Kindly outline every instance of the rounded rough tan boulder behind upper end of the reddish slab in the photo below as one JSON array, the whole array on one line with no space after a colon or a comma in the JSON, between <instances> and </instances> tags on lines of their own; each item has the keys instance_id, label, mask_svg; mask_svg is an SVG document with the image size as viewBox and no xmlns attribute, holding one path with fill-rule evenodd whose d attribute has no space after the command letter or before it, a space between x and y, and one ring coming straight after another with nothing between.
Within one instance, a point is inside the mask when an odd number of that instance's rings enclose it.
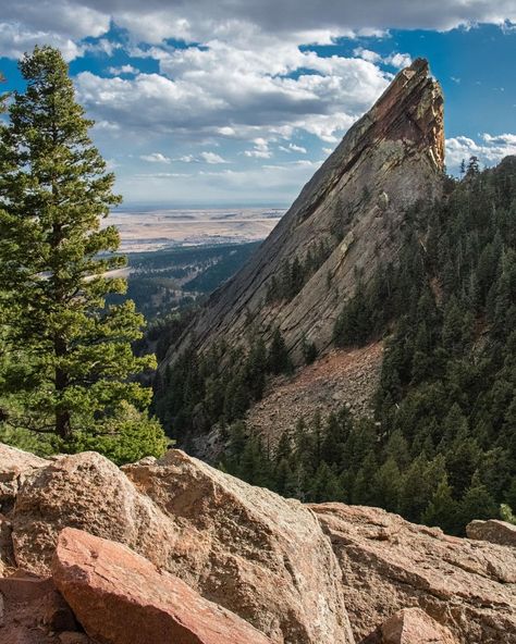
<instances>
[{"instance_id":1,"label":"rounded rough tan boulder behind upper end of the reddish slab","mask_svg":"<svg viewBox=\"0 0 516 644\"><path fill-rule=\"evenodd\" d=\"M11 521L17 566L44 575L65 527L124 543L164 567L177 532L115 465L94 451L37 470L20 490Z\"/></svg>"}]
</instances>

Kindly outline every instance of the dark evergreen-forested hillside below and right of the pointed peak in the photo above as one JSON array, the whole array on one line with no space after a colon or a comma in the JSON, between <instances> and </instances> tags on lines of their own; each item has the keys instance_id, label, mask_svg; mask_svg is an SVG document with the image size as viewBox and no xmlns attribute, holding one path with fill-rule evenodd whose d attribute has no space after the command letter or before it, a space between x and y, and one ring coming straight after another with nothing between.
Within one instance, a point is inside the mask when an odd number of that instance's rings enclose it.
<instances>
[{"instance_id":1,"label":"dark evergreen-forested hillside below and right of the pointed peak","mask_svg":"<svg viewBox=\"0 0 516 644\"><path fill-rule=\"evenodd\" d=\"M334 329L337 346L386 337L373 419L343 409L298 419L278 446L237 421L267 373L290 369L277 333L220 373L223 347L183 356L158 409L184 432L229 425L221 467L305 500L378 505L458 533L516 507L516 158L475 159L445 195L410 209L397 264L358 283ZM314 356L307 351L307 358Z\"/></svg>"}]
</instances>

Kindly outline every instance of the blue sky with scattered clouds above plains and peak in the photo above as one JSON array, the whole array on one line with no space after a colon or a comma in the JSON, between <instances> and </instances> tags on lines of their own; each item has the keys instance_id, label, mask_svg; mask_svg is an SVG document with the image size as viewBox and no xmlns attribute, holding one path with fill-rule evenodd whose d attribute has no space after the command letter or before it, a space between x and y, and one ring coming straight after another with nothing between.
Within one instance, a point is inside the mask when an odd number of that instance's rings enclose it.
<instances>
[{"instance_id":1,"label":"blue sky with scattered clouds above plains and peak","mask_svg":"<svg viewBox=\"0 0 516 644\"><path fill-rule=\"evenodd\" d=\"M17 0L0 71L53 45L126 208L288 206L396 72L429 60L446 166L516 154L515 0Z\"/></svg>"}]
</instances>

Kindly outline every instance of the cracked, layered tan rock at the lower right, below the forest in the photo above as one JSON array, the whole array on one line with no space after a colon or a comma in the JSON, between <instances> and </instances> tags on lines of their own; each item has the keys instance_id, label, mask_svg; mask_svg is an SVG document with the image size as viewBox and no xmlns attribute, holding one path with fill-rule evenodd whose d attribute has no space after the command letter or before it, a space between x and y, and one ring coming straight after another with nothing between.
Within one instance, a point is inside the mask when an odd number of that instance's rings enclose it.
<instances>
[{"instance_id":1,"label":"cracked, layered tan rock at the lower right, below the forest","mask_svg":"<svg viewBox=\"0 0 516 644\"><path fill-rule=\"evenodd\" d=\"M310 507L340 560L358 642L371 626L419 607L463 644L516 643L515 549L446 536L378 508Z\"/></svg>"}]
</instances>

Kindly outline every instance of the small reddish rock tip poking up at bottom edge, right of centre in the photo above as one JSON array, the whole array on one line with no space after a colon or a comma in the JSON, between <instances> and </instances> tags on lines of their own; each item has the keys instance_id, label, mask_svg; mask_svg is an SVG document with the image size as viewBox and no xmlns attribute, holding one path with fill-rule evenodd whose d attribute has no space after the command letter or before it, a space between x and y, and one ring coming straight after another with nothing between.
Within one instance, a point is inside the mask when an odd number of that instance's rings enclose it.
<instances>
[{"instance_id":1,"label":"small reddish rock tip poking up at bottom edge, right of centre","mask_svg":"<svg viewBox=\"0 0 516 644\"><path fill-rule=\"evenodd\" d=\"M393 615L364 644L457 644L457 640L420 608Z\"/></svg>"}]
</instances>

